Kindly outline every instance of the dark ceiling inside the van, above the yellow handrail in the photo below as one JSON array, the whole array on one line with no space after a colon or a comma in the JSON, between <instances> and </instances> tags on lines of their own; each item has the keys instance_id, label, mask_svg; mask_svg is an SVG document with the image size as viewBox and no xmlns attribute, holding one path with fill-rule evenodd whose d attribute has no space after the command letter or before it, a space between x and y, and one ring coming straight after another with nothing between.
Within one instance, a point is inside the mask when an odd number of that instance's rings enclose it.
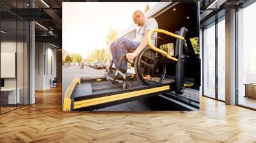
<instances>
[{"instance_id":1,"label":"dark ceiling inside the van, above the yellow handrail","mask_svg":"<svg viewBox=\"0 0 256 143\"><path fill-rule=\"evenodd\" d=\"M155 17L155 19L158 22L159 29L175 33L180 30L180 27L186 27L189 38L193 38L199 36L196 13L196 3L178 3ZM159 33L157 36L161 37L161 40L158 40L157 43L173 42L173 40L176 40L163 33Z\"/></svg>"}]
</instances>

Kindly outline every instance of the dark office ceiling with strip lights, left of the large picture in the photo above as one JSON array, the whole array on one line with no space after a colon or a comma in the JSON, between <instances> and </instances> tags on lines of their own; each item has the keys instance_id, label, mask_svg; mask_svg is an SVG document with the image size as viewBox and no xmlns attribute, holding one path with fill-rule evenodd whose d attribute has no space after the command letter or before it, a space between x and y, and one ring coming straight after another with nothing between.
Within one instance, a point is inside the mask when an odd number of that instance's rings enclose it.
<instances>
[{"instance_id":1,"label":"dark office ceiling with strip lights, left of the large picture","mask_svg":"<svg viewBox=\"0 0 256 143\"><path fill-rule=\"evenodd\" d=\"M35 20L36 42L49 42L62 47L62 2L61 0L1 0L1 29L8 31L2 38L12 39L23 33L23 21ZM16 20L17 31L16 31ZM19 22L22 21L22 22ZM28 29L25 28L25 31Z\"/></svg>"}]
</instances>

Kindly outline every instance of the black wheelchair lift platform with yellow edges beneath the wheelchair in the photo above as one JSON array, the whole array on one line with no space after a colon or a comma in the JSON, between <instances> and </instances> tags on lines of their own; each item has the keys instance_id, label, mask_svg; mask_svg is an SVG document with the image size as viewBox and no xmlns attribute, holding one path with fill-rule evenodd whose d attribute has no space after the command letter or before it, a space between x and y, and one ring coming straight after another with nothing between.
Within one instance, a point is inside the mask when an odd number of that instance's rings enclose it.
<instances>
[{"instance_id":1,"label":"black wheelchair lift platform with yellow edges beneath the wheelchair","mask_svg":"<svg viewBox=\"0 0 256 143\"><path fill-rule=\"evenodd\" d=\"M88 82L88 80L91 81ZM94 81L76 77L65 92L63 111L81 108L86 110L100 109L171 91L170 83L142 86L138 81L134 81L131 89L122 89L122 84L118 83L111 84L103 77L95 78ZM85 90L87 93L84 92Z\"/></svg>"}]
</instances>

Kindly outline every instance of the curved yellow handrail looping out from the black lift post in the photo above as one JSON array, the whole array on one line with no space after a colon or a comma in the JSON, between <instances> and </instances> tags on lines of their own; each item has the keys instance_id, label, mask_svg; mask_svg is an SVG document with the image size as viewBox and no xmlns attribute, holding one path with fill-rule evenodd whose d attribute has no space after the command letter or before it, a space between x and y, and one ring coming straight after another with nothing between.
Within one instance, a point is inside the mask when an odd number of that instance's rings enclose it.
<instances>
[{"instance_id":1,"label":"curved yellow handrail looping out from the black lift post","mask_svg":"<svg viewBox=\"0 0 256 143\"><path fill-rule=\"evenodd\" d=\"M163 30L163 29L151 29L151 30L149 31L149 33L148 33L148 45L149 45L149 47L150 47L152 50L155 50L156 52L159 52L159 53L163 54L163 55L166 56L168 59L172 59L173 61L178 61L177 58L170 56L170 55L169 55L167 52L165 52L164 50L161 50L161 49L158 49L157 47L154 47L154 45L153 45L152 42L151 42L151 37L152 37L152 35L153 35L155 32L168 34L169 36L173 36L174 38L178 38L178 39L180 39L180 40L184 40L184 41L185 41L184 44L186 44L185 38L182 37L182 36L179 36L179 35L177 35L177 34L173 34L173 33L170 33L170 32L168 32L168 31L165 31L165 30Z\"/></svg>"}]
</instances>

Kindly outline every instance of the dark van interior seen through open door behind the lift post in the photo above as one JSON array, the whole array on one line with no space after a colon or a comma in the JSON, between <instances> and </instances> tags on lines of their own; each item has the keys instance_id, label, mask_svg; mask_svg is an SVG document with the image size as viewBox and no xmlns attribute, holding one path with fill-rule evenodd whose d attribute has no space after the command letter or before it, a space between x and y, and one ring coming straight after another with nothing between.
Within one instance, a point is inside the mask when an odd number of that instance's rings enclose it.
<instances>
[{"instance_id":1,"label":"dark van interior seen through open door behind the lift post","mask_svg":"<svg viewBox=\"0 0 256 143\"><path fill-rule=\"evenodd\" d=\"M177 33L181 27L186 27L186 42L188 49L183 49L185 58L185 82L194 84L194 89L200 86L200 58L199 58L199 24L198 24L198 6L196 3L177 3L167 6L162 13L153 15L157 20L159 29L164 29L171 33ZM180 15L180 16L179 16ZM175 52L176 38L167 34L157 34L157 47L173 43ZM192 41L192 42L191 42ZM174 53L175 56L175 53ZM166 75L175 78L175 62L166 59Z\"/></svg>"}]
</instances>

